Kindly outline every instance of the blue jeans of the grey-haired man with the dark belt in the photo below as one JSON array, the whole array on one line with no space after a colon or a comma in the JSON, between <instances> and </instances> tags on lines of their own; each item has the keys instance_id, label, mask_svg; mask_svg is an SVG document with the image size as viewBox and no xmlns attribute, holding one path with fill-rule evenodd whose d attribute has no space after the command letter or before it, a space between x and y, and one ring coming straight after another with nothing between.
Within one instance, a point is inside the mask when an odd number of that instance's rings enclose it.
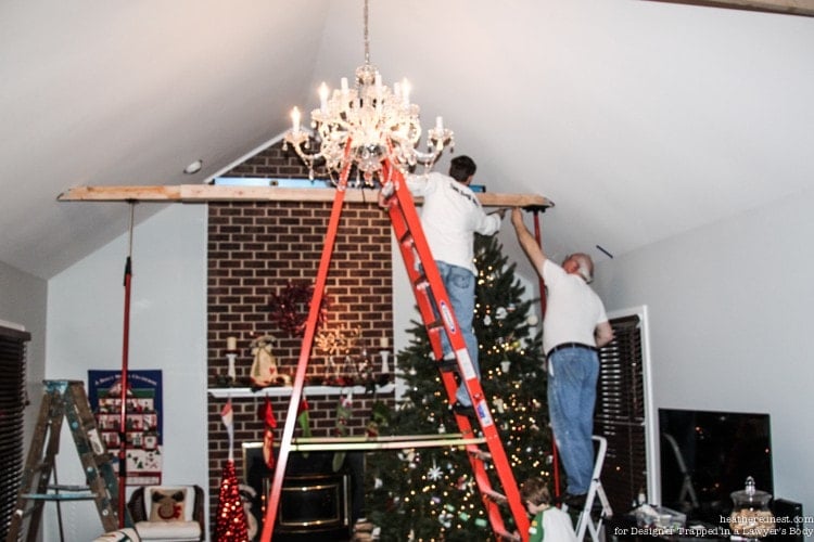
<instances>
[{"instance_id":1,"label":"blue jeans of the grey-haired man with the dark belt","mask_svg":"<svg viewBox=\"0 0 814 542\"><path fill-rule=\"evenodd\" d=\"M599 376L597 352L557 350L548 358L548 413L557 450L568 475L567 491L588 491L594 473L594 405Z\"/></svg>"}]
</instances>

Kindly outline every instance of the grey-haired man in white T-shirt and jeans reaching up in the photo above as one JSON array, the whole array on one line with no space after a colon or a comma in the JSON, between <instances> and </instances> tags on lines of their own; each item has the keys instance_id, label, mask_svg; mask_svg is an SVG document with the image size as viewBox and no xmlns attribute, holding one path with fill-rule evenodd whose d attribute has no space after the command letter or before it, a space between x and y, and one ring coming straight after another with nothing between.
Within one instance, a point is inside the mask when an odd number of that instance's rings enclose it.
<instances>
[{"instance_id":1,"label":"grey-haired man in white T-shirt and jeans reaching up","mask_svg":"<svg viewBox=\"0 0 814 542\"><path fill-rule=\"evenodd\" d=\"M594 472L594 405L599 376L597 349L613 340L605 306L588 286L594 262L586 254L549 260L523 223L511 214L518 242L547 287L543 349L548 364L548 413L568 475L562 501L582 507Z\"/></svg>"}]
</instances>

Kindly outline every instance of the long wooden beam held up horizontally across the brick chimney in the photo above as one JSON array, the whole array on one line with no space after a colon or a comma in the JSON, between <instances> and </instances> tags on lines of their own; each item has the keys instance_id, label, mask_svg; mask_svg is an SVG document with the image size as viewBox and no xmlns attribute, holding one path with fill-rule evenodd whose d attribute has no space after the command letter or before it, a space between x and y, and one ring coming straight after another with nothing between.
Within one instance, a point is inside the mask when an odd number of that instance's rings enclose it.
<instances>
[{"instance_id":1,"label":"long wooden beam held up horizontally across the brick chimney","mask_svg":"<svg viewBox=\"0 0 814 542\"><path fill-rule=\"evenodd\" d=\"M554 207L537 194L475 193L484 207ZM378 190L347 189L346 202L377 204ZM76 186L60 194L59 202L332 202L334 189L292 189L281 186L233 186L181 184L177 186ZM417 201L420 203L420 199Z\"/></svg>"}]
</instances>

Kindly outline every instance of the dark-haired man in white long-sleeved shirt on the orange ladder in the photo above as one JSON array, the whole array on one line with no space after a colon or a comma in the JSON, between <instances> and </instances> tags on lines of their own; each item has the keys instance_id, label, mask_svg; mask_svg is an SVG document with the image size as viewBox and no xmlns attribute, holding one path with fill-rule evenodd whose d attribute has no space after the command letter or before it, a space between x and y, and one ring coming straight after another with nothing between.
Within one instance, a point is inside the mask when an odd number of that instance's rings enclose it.
<instances>
[{"instance_id":1,"label":"dark-haired man in white long-sleeved shirt on the orange ladder","mask_svg":"<svg viewBox=\"0 0 814 542\"><path fill-rule=\"evenodd\" d=\"M449 175L431 172L407 175L407 188L414 196L423 197L421 227L430 251L444 281L455 318L467 344L467 352L480 378L478 338L472 328L475 301L474 233L492 235L500 229L504 210L486 214L469 188L478 169L469 156L456 156ZM445 359L454 358L449 340L442 333ZM453 410L474 414L472 400L463 385L458 387Z\"/></svg>"}]
</instances>

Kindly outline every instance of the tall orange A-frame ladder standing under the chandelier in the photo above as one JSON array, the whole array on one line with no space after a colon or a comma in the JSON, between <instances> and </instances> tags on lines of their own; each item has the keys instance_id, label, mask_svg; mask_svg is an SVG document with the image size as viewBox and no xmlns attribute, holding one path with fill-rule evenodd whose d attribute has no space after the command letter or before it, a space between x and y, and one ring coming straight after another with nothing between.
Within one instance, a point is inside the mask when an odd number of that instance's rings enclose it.
<instances>
[{"instance_id":1,"label":"tall orange A-frame ladder standing under the chandelier","mask_svg":"<svg viewBox=\"0 0 814 542\"><path fill-rule=\"evenodd\" d=\"M347 149L349 149L349 144ZM275 469L275 476L268 496L269 505L266 507L263 533L260 535L260 540L264 542L271 540L277 517L277 508L278 503L280 502L285 466L289 453L292 449L294 426L296 424L298 405L305 384L306 369L319 319L319 308L325 295L328 269L347 189L349 164L351 160L345 159L345 167L340 173L331 217L329 219L328 232L326 233L326 242L322 249L317 280L314 286L314 296L310 300L308 319L306 320L297 370L292 384L288 415L282 437L280 439L277 467ZM474 372L472 360L468 354L466 341L460 333L446 288L441 280L435 260L430 253L430 247L427 244L412 196L406 186L402 172L394 168L386 159L382 165L382 185L385 186L385 192L389 191L386 199L387 210L394 233L398 240L405 266L407 267L410 276L421 317L430 336L433 352L437 360L442 359L441 337L442 334L446 334L446 337L455 351L458 372L461 375L461 383L467 387L467 390L472 398L472 404L474 406L474 412L476 413L476 420L480 425L482 437L474 434L468 416L456 414L455 418L462 439L468 442L463 446L468 452L469 461L472 466L473 479L475 480L476 487L481 493L486 515L497 540L526 541L529 537L529 516L520 498L520 492L511 472L511 465L506 456L499 434L497 433L494 420L492 418L488 402L486 401L480 380ZM436 315L434 307L438 308L441 319ZM438 369L441 369L441 362L438 362ZM447 391L447 397L451 404L455 401L455 395L458 388L455 373L442 371L441 375ZM486 449L483 450L481 446ZM494 466L503 492L493 489L486 463L491 463L492 466ZM508 504L509 511L514 520L514 530L512 532L508 531L504 522L500 506L505 504Z\"/></svg>"}]
</instances>

